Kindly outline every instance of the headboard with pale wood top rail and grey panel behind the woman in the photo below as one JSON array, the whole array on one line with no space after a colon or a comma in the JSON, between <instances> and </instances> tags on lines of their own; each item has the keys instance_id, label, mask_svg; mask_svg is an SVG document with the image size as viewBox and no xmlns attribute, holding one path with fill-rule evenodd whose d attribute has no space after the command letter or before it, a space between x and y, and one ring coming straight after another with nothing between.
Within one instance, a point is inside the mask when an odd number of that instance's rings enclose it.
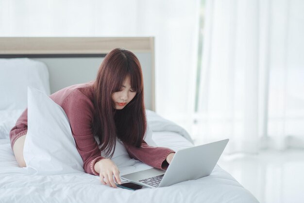
<instances>
[{"instance_id":1,"label":"headboard with pale wood top rail and grey panel behind the woman","mask_svg":"<svg viewBox=\"0 0 304 203\"><path fill-rule=\"evenodd\" d=\"M153 37L0 37L0 58L31 58L47 65L51 93L95 80L104 56L115 48L138 57L145 105L155 111Z\"/></svg>"}]
</instances>

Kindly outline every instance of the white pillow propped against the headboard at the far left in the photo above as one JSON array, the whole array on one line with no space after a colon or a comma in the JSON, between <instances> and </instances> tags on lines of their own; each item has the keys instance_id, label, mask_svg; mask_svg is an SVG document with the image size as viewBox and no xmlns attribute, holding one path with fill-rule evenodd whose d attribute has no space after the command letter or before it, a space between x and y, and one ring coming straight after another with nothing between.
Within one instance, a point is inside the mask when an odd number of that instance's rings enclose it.
<instances>
[{"instance_id":1,"label":"white pillow propped against the headboard at the far left","mask_svg":"<svg viewBox=\"0 0 304 203\"><path fill-rule=\"evenodd\" d=\"M0 59L0 110L25 109L27 86L50 95L47 66L28 58Z\"/></svg>"}]
</instances>

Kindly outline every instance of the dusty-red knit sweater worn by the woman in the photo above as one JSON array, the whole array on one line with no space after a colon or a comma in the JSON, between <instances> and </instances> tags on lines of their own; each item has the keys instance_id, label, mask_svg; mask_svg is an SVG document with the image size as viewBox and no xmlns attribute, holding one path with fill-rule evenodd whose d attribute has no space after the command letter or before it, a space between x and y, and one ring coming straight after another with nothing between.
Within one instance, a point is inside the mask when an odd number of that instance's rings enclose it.
<instances>
[{"instance_id":1,"label":"dusty-red knit sweater worn by the woman","mask_svg":"<svg viewBox=\"0 0 304 203\"><path fill-rule=\"evenodd\" d=\"M66 112L76 148L84 161L84 170L87 173L99 175L94 170L97 161L103 159L98 144L92 133L93 118L93 82L68 86L52 94L50 98L60 105ZM27 133L27 109L18 118L16 126L10 132L11 146L15 141ZM169 153L174 152L169 148L151 147L143 142L136 148L125 144L131 158L135 158L157 169L167 169L166 161Z\"/></svg>"}]
</instances>

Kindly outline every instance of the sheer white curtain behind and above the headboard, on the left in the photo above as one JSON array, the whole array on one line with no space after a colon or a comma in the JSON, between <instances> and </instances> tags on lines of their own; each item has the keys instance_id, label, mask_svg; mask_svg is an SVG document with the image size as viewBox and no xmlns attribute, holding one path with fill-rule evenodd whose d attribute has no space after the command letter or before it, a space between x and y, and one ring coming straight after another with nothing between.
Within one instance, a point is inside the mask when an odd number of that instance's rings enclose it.
<instances>
[{"instance_id":1,"label":"sheer white curtain behind and above the headboard, on the left","mask_svg":"<svg viewBox=\"0 0 304 203\"><path fill-rule=\"evenodd\" d=\"M156 112L190 128L199 0L0 0L0 36L154 36Z\"/></svg>"}]
</instances>

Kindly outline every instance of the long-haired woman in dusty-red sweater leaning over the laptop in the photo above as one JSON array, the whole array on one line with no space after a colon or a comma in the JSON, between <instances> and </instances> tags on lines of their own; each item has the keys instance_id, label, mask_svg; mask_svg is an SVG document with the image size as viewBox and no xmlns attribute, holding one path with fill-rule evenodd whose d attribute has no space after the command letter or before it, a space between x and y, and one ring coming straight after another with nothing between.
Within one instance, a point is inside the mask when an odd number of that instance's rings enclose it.
<instances>
[{"instance_id":1,"label":"long-haired woman in dusty-red sweater leaning over the laptop","mask_svg":"<svg viewBox=\"0 0 304 203\"><path fill-rule=\"evenodd\" d=\"M174 151L151 147L143 140L147 129L143 77L140 63L131 51L111 51L101 63L95 81L68 86L50 98L68 116L84 171L99 175L103 185L117 188L114 179L121 184L118 167L111 160L117 137L131 158L154 168L168 168ZM26 133L27 109L10 132L11 146L20 167L26 167L23 158ZM94 136L99 138L100 147ZM101 152L106 156L101 156Z\"/></svg>"}]
</instances>

